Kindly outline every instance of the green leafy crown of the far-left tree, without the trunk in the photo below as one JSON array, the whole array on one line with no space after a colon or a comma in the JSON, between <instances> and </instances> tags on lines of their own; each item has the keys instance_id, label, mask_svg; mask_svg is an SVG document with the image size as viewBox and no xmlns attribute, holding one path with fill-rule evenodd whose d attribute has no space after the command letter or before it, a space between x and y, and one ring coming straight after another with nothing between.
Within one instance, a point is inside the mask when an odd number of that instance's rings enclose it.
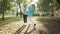
<instances>
[{"instance_id":1,"label":"green leafy crown of the far-left tree, without the trunk","mask_svg":"<svg viewBox=\"0 0 60 34\"><path fill-rule=\"evenodd\" d=\"M10 0L0 0L0 13L10 9Z\"/></svg>"}]
</instances>

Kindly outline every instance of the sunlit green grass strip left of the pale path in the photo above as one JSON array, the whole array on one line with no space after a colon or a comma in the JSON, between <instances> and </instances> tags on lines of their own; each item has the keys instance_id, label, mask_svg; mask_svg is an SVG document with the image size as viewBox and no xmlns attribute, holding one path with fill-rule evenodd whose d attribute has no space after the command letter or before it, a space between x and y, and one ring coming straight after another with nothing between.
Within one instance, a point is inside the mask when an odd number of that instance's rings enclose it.
<instances>
[{"instance_id":1,"label":"sunlit green grass strip left of the pale path","mask_svg":"<svg viewBox=\"0 0 60 34\"><path fill-rule=\"evenodd\" d=\"M15 17L15 16L5 17L4 20L1 20L1 17L0 17L0 27L8 23L12 23L19 20L20 20L20 17Z\"/></svg>"}]
</instances>

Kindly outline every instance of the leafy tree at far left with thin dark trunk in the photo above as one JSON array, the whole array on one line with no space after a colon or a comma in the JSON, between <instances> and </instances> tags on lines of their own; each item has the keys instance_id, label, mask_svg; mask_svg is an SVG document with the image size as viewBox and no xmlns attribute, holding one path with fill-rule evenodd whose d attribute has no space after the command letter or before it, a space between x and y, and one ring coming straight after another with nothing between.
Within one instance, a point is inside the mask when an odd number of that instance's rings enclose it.
<instances>
[{"instance_id":1,"label":"leafy tree at far left with thin dark trunk","mask_svg":"<svg viewBox=\"0 0 60 34\"><path fill-rule=\"evenodd\" d=\"M6 10L9 10L10 9L10 2L9 2L9 0L1 0L1 2L0 2L0 12L1 12L1 14L2 14L2 20L4 20L4 12L6 11Z\"/></svg>"}]
</instances>

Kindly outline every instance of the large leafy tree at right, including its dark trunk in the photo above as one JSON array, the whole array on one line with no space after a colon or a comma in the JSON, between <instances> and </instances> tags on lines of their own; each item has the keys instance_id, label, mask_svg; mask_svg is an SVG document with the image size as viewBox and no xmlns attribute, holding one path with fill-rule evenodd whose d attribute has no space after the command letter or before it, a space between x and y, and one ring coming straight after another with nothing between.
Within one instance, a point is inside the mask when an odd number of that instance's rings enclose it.
<instances>
[{"instance_id":1,"label":"large leafy tree at right, including its dark trunk","mask_svg":"<svg viewBox=\"0 0 60 34\"><path fill-rule=\"evenodd\" d=\"M38 8L44 10L44 12L51 11L51 15L54 16L56 5L56 0L39 0Z\"/></svg>"}]
</instances>

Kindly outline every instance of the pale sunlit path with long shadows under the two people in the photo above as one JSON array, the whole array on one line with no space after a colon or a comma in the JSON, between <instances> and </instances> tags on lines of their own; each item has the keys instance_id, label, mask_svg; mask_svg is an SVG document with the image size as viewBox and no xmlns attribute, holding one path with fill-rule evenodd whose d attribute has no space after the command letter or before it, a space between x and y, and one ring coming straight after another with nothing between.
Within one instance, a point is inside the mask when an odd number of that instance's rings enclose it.
<instances>
[{"instance_id":1,"label":"pale sunlit path with long shadows under the two people","mask_svg":"<svg viewBox=\"0 0 60 34\"><path fill-rule=\"evenodd\" d=\"M45 33L48 33L48 30L46 27L44 27L44 24L39 23L36 19L37 17L32 18L32 21L36 24L36 26L33 26L33 24L29 21L29 18L28 18L27 25L24 25L23 20L4 25L3 27L0 27L0 34L45 34Z\"/></svg>"}]
</instances>

